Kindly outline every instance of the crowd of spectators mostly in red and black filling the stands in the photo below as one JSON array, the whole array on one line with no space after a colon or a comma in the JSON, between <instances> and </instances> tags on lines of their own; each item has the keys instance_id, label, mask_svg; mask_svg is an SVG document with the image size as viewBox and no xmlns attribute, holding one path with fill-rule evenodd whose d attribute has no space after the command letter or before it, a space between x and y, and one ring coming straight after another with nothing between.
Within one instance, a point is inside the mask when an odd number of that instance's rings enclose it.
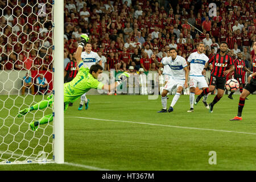
<instances>
[{"instance_id":1,"label":"crowd of spectators mostly in red and black filling the stands","mask_svg":"<svg viewBox=\"0 0 256 182\"><path fill-rule=\"evenodd\" d=\"M52 70L52 1L40 3L46 5L44 15L39 14L36 1L8 1L8 6L7 1L1 1L0 70L23 69L34 77ZM216 3L217 16L209 16L209 3ZM160 61L166 48L175 47L178 55L187 59L196 51L196 43L204 42L205 54L210 57L221 41L228 42L234 58L237 52L243 52L246 67L251 69L255 5L253 0L67 0L64 68L76 51L80 35L86 33L92 51L105 57L101 56L105 71L126 71L131 65L135 71L141 67L146 73L158 71L150 59L152 53Z\"/></svg>"}]
</instances>

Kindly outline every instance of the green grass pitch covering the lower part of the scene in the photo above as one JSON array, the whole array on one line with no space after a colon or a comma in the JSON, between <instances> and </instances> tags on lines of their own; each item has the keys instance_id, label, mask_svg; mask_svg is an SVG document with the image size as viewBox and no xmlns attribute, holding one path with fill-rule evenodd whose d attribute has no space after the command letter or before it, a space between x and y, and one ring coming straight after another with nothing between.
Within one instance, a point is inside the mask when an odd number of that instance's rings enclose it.
<instances>
[{"instance_id":1,"label":"green grass pitch covering the lower part of the scene","mask_svg":"<svg viewBox=\"0 0 256 182\"><path fill-rule=\"evenodd\" d=\"M160 96L87 97L88 110L77 110L76 101L64 115L66 164L0 165L0 170L256 170L255 95L245 101L242 122L229 121L237 114L238 95L234 100L224 95L213 113L201 101L187 113L189 96L180 97L173 113L156 113L162 109ZM169 106L173 96L168 97ZM28 130L42 111L15 118L19 107L40 100L42 96L0 96L0 151L20 148L17 156L22 150L29 155L33 147L34 154L51 151L52 123L36 133ZM38 141L50 144L43 148ZM209 164L210 151L216 152L217 164Z\"/></svg>"}]
</instances>

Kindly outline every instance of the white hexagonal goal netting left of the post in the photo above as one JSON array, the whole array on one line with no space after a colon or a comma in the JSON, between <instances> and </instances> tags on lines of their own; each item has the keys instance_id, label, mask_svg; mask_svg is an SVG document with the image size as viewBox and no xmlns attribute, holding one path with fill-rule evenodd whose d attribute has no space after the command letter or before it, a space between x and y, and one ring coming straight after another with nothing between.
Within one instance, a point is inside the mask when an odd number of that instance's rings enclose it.
<instances>
[{"instance_id":1,"label":"white hexagonal goal netting left of the post","mask_svg":"<svg viewBox=\"0 0 256 182\"><path fill-rule=\"evenodd\" d=\"M36 132L29 126L31 121L51 114L52 109L17 117L20 110L51 93L52 24L52 1L0 2L0 163L53 158L52 123ZM48 82L46 88L37 86L40 75Z\"/></svg>"}]
</instances>

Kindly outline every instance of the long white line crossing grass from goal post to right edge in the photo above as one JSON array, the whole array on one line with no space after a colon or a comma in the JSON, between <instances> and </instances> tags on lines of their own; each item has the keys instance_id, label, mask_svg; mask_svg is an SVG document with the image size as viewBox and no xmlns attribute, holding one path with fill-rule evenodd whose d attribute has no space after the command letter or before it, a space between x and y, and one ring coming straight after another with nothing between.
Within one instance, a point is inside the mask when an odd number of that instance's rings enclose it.
<instances>
[{"instance_id":1,"label":"long white line crossing grass from goal post to right edge","mask_svg":"<svg viewBox=\"0 0 256 182\"><path fill-rule=\"evenodd\" d=\"M91 120L96 120L96 121L112 121L112 122L123 122L123 123L135 123L135 124L140 124L140 125L175 127L175 128L178 128L178 129L206 130L206 131L218 131L218 132L226 132L226 133L256 135L256 133L247 133L247 132L242 132L242 131L229 131L229 130L216 130L216 129L200 129L200 128L197 128L197 127L161 125L161 124L155 124L155 123L144 123L144 122L134 122L134 121L119 121L119 120L112 120L112 119L98 119L98 118L85 118L85 117L65 117L65 118L80 118L80 119L91 119Z\"/></svg>"}]
</instances>

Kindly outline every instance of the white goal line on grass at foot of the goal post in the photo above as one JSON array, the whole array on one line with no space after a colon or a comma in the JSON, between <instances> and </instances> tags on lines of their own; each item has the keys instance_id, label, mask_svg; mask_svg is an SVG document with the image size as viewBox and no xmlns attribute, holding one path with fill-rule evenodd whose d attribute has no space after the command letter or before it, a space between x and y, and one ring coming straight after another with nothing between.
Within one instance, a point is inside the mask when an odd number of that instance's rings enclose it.
<instances>
[{"instance_id":1,"label":"white goal line on grass at foot of the goal post","mask_svg":"<svg viewBox=\"0 0 256 182\"><path fill-rule=\"evenodd\" d=\"M26 155L20 155L20 154L13 154L13 152L4 152L4 151L0 151L0 153L4 153L7 155L12 155L12 156L16 156L16 157L23 157L23 158L30 158L30 159L36 159L34 157L30 157L30 156L26 156ZM28 159L28 160L30 160ZM39 162L40 163L40 162ZM30 163L22 163L22 164L30 164ZM42 162L41 162L42 164ZM83 165L83 164L75 164L75 163L64 163L65 165L68 166L73 166L73 167L80 167L80 168L85 168L85 169L91 169L91 170L96 170L96 171L110 171L110 169L103 169L103 168L98 168L98 167L93 167L93 166L87 166L87 165ZM7 164L8 165L8 164Z\"/></svg>"}]
</instances>

